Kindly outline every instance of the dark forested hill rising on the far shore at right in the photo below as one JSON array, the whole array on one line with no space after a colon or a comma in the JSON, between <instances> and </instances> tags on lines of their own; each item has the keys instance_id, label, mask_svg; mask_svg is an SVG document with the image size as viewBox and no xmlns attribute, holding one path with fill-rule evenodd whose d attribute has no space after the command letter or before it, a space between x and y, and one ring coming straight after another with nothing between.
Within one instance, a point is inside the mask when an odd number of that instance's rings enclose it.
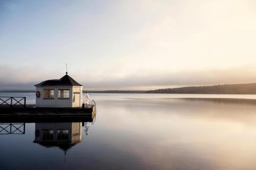
<instances>
[{"instance_id":1,"label":"dark forested hill rising on the far shore at right","mask_svg":"<svg viewBox=\"0 0 256 170\"><path fill-rule=\"evenodd\" d=\"M158 89L158 90L148 90L146 91L146 93L256 94L256 83L166 88L166 89Z\"/></svg>"}]
</instances>

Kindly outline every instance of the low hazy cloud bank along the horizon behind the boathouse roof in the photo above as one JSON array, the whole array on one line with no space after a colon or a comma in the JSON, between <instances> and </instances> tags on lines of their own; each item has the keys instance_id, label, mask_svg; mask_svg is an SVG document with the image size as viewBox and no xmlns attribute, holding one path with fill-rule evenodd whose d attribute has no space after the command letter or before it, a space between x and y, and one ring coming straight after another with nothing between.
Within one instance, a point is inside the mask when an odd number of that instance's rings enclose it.
<instances>
[{"instance_id":1,"label":"low hazy cloud bank along the horizon behind the boathouse roof","mask_svg":"<svg viewBox=\"0 0 256 170\"><path fill-rule=\"evenodd\" d=\"M1 67L3 72L7 68ZM59 79L63 73L51 74L35 68L10 69L8 76L0 75L1 89L33 89L33 85L48 79ZM177 72L140 72L123 77L115 74L70 74L89 90L109 89L155 89L179 86L215 85L256 82L256 73L252 66L239 66L229 69L183 70Z\"/></svg>"}]
</instances>

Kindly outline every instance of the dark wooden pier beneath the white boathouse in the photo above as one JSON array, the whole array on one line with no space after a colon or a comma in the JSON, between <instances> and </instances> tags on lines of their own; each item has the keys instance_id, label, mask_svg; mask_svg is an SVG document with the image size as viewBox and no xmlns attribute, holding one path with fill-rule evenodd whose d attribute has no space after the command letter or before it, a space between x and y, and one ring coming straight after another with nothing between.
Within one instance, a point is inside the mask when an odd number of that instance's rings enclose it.
<instances>
[{"instance_id":1,"label":"dark wooden pier beneath the white boathouse","mask_svg":"<svg viewBox=\"0 0 256 170\"><path fill-rule=\"evenodd\" d=\"M10 98L10 99L9 99ZM12 101L15 97L9 97L8 101L1 99L0 103L0 121L1 122L65 122L73 120L74 122L90 122L96 114L96 104L88 105L88 107L35 107L35 105L26 105L24 103L13 105ZM19 101L20 102L20 101Z\"/></svg>"}]
</instances>

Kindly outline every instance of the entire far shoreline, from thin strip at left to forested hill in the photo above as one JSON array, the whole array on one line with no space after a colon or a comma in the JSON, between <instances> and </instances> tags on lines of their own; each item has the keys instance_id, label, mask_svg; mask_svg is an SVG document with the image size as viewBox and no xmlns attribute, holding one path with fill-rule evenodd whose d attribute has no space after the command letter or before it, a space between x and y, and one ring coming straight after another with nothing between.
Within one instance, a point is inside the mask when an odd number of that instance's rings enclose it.
<instances>
[{"instance_id":1,"label":"entire far shoreline, from thin strip at left to forested hill","mask_svg":"<svg viewBox=\"0 0 256 170\"><path fill-rule=\"evenodd\" d=\"M0 92L35 92L35 90L0 90ZM83 90L86 92L86 90ZM256 83L190 86L157 90L89 90L89 93L162 93L162 94L256 94Z\"/></svg>"}]
</instances>

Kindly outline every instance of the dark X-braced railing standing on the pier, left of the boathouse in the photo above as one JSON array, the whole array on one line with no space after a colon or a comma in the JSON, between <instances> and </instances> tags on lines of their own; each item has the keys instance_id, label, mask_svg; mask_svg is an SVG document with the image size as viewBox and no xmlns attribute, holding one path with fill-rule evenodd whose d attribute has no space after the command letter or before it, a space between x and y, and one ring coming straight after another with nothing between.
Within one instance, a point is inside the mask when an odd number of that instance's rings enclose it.
<instances>
[{"instance_id":1,"label":"dark X-braced railing standing on the pier, left of the boathouse","mask_svg":"<svg viewBox=\"0 0 256 170\"><path fill-rule=\"evenodd\" d=\"M0 103L0 107L26 107L26 97L0 96L0 102L2 102Z\"/></svg>"}]
</instances>

